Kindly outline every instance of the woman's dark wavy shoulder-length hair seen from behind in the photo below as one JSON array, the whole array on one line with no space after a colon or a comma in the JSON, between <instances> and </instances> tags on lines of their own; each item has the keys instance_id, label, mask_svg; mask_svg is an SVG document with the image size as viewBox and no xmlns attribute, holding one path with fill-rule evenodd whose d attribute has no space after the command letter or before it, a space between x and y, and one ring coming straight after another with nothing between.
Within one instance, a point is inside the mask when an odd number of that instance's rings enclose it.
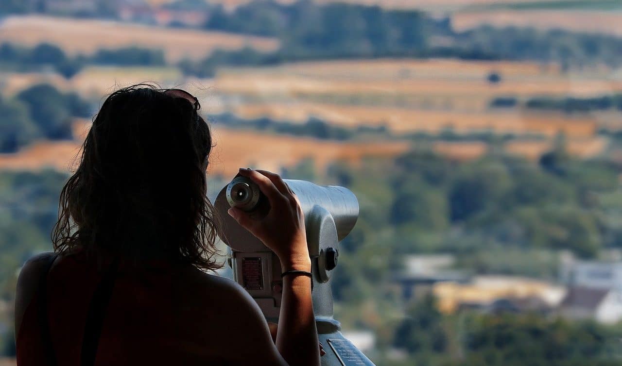
<instances>
[{"instance_id":1,"label":"woman's dark wavy shoulder-length hair seen from behind","mask_svg":"<svg viewBox=\"0 0 622 366\"><path fill-rule=\"evenodd\" d=\"M221 268L207 198L211 134L198 109L181 89L140 84L109 95L60 194L55 252Z\"/></svg>"}]
</instances>

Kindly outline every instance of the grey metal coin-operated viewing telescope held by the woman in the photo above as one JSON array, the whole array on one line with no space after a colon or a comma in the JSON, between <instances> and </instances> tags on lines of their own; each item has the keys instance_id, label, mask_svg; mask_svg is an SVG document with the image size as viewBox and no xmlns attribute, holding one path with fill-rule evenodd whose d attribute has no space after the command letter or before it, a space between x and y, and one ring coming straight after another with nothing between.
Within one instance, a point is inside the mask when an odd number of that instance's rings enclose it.
<instances>
[{"instance_id":1,"label":"grey metal coin-operated viewing telescope held by the woman","mask_svg":"<svg viewBox=\"0 0 622 366\"><path fill-rule=\"evenodd\" d=\"M294 191L305 215L307 244L313 273L312 298L318 337L326 354L323 366L373 365L341 334L341 324L333 318L330 278L337 267L339 242L358 219L358 201L347 188L318 186L309 181L284 180ZM265 207L267 198L244 176L236 176L215 199L223 220L221 239L230 247L233 278L253 296L267 321L278 322L281 310L281 262L261 240L227 214L231 206L244 211ZM327 347L328 345L328 347Z\"/></svg>"}]
</instances>

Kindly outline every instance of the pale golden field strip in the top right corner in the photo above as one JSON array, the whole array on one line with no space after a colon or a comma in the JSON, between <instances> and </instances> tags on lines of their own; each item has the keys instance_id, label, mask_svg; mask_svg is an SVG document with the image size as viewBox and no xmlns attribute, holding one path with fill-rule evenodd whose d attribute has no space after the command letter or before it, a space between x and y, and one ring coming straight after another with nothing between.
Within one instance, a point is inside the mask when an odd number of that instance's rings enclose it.
<instances>
[{"instance_id":1,"label":"pale golden field strip in the top right corner","mask_svg":"<svg viewBox=\"0 0 622 366\"><path fill-rule=\"evenodd\" d=\"M495 27L535 27L622 35L622 12L504 10L457 12L452 15L452 25L458 31L475 28L482 24Z\"/></svg>"}]
</instances>

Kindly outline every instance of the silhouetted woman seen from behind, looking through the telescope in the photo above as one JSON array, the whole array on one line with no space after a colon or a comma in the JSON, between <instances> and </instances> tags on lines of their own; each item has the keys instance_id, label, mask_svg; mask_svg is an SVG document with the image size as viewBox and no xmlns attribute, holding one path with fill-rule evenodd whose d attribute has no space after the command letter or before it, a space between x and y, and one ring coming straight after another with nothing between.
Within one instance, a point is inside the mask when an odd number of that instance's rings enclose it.
<instances>
[{"instance_id":1,"label":"silhouetted woman seen from behind, looking through the telescope","mask_svg":"<svg viewBox=\"0 0 622 366\"><path fill-rule=\"evenodd\" d=\"M60 195L54 253L19 275L18 365L319 364L304 217L278 175L239 172L269 198L264 219L230 210L294 271L276 345L253 298L206 273L221 265L199 108L185 91L149 85L104 101Z\"/></svg>"}]
</instances>

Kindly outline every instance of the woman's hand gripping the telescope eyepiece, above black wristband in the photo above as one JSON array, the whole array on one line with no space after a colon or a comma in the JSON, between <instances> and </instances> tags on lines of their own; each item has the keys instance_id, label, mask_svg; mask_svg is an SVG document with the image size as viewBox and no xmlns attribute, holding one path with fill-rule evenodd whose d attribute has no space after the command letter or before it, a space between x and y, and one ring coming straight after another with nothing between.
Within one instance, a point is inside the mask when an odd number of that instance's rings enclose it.
<instances>
[{"instance_id":1,"label":"woman's hand gripping the telescope eyepiece, above black wristband","mask_svg":"<svg viewBox=\"0 0 622 366\"><path fill-rule=\"evenodd\" d=\"M239 175L259 186L270 203L270 211L262 219L251 217L238 208L230 208L228 213L272 249L281 260L283 271L310 271L304 213L294 192L279 175L266 170L240 168Z\"/></svg>"}]
</instances>

